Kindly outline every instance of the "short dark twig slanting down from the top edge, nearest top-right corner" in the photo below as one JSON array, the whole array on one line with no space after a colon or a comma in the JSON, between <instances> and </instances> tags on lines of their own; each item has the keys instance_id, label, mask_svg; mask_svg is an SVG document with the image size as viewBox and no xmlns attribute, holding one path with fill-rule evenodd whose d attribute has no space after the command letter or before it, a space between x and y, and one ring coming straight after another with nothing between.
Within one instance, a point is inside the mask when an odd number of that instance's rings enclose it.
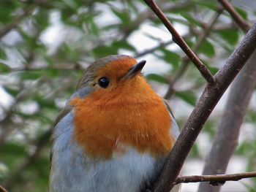
<instances>
[{"instance_id":1,"label":"short dark twig slanting down from the top edge, nearest top-right corner","mask_svg":"<svg viewBox=\"0 0 256 192\"><path fill-rule=\"evenodd\" d=\"M236 21L238 26L244 31L247 32L250 28L249 24L236 12L236 9L227 1L227 0L218 0L220 4L229 12L232 18Z\"/></svg>"}]
</instances>

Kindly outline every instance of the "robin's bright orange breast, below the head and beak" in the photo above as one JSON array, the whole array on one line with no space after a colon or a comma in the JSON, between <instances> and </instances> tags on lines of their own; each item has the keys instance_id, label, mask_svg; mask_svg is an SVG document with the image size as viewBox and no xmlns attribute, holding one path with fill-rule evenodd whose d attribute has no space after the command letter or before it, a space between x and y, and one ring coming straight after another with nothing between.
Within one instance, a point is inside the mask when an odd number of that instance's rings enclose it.
<instances>
[{"instance_id":1,"label":"robin's bright orange breast, below the head and beak","mask_svg":"<svg viewBox=\"0 0 256 192\"><path fill-rule=\"evenodd\" d=\"M94 91L70 104L75 109L74 139L92 158L124 154L127 146L154 156L167 155L173 147L170 116L146 82L131 90Z\"/></svg>"}]
</instances>

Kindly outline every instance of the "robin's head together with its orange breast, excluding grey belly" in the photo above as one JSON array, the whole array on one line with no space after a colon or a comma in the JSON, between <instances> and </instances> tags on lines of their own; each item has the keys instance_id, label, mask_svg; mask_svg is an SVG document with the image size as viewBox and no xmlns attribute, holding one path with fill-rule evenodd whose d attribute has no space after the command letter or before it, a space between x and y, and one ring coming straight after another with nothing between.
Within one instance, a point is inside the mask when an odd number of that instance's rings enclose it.
<instances>
[{"instance_id":1,"label":"robin's head together with its orange breast, excluding grey belly","mask_svg":"<svg viewBox=\"0 0 256 192\"><path fill-rule=\"evenodd\" d=\"M78 92L87 92L69 104L74 107L75 140L91 157L110 158L126 153L127 147L151 155L170 152L170 115L140 74L145 64L127 55L110 55L83 74Z\"/></svg>"}]
</instances>

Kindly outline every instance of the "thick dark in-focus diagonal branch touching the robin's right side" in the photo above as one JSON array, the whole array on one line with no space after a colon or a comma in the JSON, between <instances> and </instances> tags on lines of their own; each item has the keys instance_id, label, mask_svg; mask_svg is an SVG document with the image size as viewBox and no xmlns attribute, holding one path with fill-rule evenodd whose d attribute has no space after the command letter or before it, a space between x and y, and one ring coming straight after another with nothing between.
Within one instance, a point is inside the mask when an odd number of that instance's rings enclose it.
<instances>
[{"instance_id":1,"label":"thick dark in-focus diagonal branch touching the robin's right side","mask_svg":"<svg viewBox=\"0 0 256 192\"><path fill-rule=\"evenodd\" d=\"M179 135L162 172L153 184L153 191L170 191L192 145L212 110L256 48L256 23L252 26L225 66L215 75L216 84L206 85L195 109Z\"/></svg>"}]
</instances>

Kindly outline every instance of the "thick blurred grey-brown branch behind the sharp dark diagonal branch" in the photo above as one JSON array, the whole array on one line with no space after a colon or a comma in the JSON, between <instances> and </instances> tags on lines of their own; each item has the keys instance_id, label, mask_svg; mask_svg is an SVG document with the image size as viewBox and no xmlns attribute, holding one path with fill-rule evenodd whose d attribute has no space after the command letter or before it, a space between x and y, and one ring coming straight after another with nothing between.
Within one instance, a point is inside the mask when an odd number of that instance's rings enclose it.
<instances>
[{"instance_id":1,"label":"thick blurred grey-brown branch behind the sharp dark diagonal branch","mask_svg":"<svg viewBox=\"0 0 256 192\"><path fill-rule=\"evenodd\" d=\"M224 174L227 164L233 155L241 124L246 115L250 98L256 85L256 51L252 54L238 74L230 89L227 104L219 122L213 145L207 155L203 174ZM222 147L219 147L222 146ZM203 183L200 184L198 191L219 191L219 188L212 188Z\"/></svg>"}]
</instances>

